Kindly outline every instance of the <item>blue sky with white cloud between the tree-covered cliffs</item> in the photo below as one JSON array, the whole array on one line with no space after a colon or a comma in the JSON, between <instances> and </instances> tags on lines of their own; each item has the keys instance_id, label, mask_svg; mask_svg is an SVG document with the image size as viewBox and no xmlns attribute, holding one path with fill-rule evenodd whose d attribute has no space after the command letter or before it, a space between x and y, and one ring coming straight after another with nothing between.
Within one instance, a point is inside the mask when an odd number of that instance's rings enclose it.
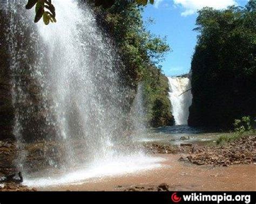
<instances>
[{"instance_id":1,"label":"blue sky with white cloud between the tree-covered cliffs","mask_svg":"<svg viewBox=\"0 0 256 204\"><path fill-rule=\"evenodd\" d=\"M167 76L177 76L190 71L191 58L197 43L198 33L192 31L196 25L197 10L209 6L225 9L229 5L244 6L247 0L154 0L147 5L143 19L147 30L157 36L166 37L171 46L162 66ZM153 19L153 24L149 23Z\"/></svg>"}]
</instances>

